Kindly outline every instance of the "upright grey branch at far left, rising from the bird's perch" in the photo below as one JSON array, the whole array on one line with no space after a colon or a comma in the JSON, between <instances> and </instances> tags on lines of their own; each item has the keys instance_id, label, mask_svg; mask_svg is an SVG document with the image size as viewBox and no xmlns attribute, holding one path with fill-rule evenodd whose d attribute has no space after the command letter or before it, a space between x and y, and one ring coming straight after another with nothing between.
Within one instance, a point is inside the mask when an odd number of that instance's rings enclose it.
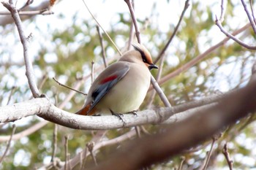
<instances>
[{"instance_id":1,"label":"upright grey branch at far left, rising from the bird's perch","mask_svg":"<svg viewBox=\"0 0 256 170\"><path fill-rule=\"evenodd\" d=\"M23 45L23 56L24 56L24 61L25 61L25 66L26 66L26 77L29 82L29 88L31 90L31 93L33 94L34 98L38 98L40 96L39 90L37 88L37 83L34 77L34 69L32 66L31 58L29 56L29 42L26 39L24 29L22 22L20 20L20 16L18 15L18 11L15 7L15 4L13 4L13 1L10 0L10 3L7 3L5 1L1 1L1 3L6 7L11 13L12 13L12 18L15 21L15 25L17 26L18 33L20 36L20 42Z\"/></svg>"}]
</instances>

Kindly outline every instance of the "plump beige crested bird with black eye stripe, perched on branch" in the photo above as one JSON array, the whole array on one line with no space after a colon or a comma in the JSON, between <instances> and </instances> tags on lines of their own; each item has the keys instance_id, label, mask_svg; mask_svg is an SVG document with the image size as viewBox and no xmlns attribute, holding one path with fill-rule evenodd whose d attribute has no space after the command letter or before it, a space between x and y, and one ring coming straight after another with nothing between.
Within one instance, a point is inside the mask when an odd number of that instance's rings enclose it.
<instances>
[{"instance_id":1,"label":"plump beige crested bird with black eye stripe, perched on branch","mask_svg":"<svg viewBox=\"0 0 256 170\"><path fill-rule=\"evenodd\" d=\"M132 45L116 62L99 74L91 85L86 103L76 114L95 115L134 113L142 104L148 91L151 73L158 69L143 45Z\"/></svg>"}]
</instances>

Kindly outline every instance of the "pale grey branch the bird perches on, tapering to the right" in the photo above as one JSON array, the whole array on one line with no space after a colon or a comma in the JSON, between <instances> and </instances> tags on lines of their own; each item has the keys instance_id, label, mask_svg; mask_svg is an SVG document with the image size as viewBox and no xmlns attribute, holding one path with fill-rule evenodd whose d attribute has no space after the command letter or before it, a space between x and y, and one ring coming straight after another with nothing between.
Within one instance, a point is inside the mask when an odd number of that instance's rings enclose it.
<instances>
[{"instance_id":1,"label":"pale grey branch the bird perches on, tapering to the right","mask_svg":"<svg viewBox=\"0 0 256 170\"><path fill-rule=\"evenodd\" d=\"M235 93L235 91L230 92ZM227 93L223 96L228 96L230 93ZM205 104L211 104L212 102L217 101L221 96L215 95L206 98L201 101L193 101L187 104L181 104L172 108L159 108L155 110L145 110L143 112L138 112L138 116L134 115L124 115L123 120L125 121L125 126L123 123L117 119L115 116L102 116L102 117L90 117L90 116L81 116L70 114L69 112L65 112L50 103L47 98L35 98L31 101L24 101L18 104L13 104L12 106L0 107L0 122L10 122L14 120L18 120L22 117L27 117L30 115L39 115L40 117L45 118L46 120L50 120L53 123L58 123L60 125L67 126L69 128L80 128L80 129L110 129L110 128L122 128L122 127L131 127L134 125L143 125L146 123L173 123L178 121L179 119L184 119L188 115L191 115L193 112L199 112L201 109L192 109L194 107L199 107ZM213 104L214 106L216 104ZM208 105L206 105L208 106ZM62 107L62 106L60 106ZM29 110L27 109L29 108ZM208 107L202 108L205 110ZM193 110L193 111L190 111ZM170 117L173 114L178 112L179 116ZM164 122L163 122L164 121ZM42 122L40 124L45 125L47 122ZM39 127L42 127L39 125ZM34 131L38 129L38 127L34 127L29 130ZM36 131L36 130L35 130ZM20 136L20 135L19 135ZM9 139L9 136L4 137L0 136L0 141Z\"/></svg>"}]
</instances>

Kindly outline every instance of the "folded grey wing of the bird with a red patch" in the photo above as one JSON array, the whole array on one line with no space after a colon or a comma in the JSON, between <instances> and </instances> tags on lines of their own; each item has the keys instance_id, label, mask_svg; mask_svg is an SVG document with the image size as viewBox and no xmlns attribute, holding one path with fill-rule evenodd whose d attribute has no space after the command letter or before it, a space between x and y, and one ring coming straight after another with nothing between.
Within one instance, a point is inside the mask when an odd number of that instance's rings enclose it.
<instances>
[{"instance_id":1,"label":"folded grey wing of the bird with a red patch","mask_svg":"<svg viewBox=\"0 0 256 170\"><path fill-rule=\"evenodd\" d=\"M99 74L97 79L91 85L92 103L89 107L88 113L99 103L100 99L113 88L129 71L130 66L127 63L118 62L113 63L102 74Z\"/></svg>"}]
</instances>

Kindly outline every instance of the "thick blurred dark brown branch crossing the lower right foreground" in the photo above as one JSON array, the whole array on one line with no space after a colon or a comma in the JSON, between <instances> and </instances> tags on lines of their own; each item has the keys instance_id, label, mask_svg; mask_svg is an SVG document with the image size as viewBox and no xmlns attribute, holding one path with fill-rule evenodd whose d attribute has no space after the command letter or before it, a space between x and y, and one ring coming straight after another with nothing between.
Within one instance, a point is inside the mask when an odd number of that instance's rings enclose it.
<instances>
[{"instance_id":1,"label":"thick blurred dark brown branch crossing the lower right foreground","mask_svg":"<svg viewBox=\"0 0 256 170\"><path fill-rule=\"evenodd\" d=\"M171 158L209 139L226 125L256 110L256 82L249 82L219 101L206 112L197 112L180 123L169 125L161 133L135 139L120 148L112 158L99 163L94 170L133 170ZM250 98L250 101L246 98ZM145 152L147 154L145 154Z\"/></svg>"}]
</instances>

